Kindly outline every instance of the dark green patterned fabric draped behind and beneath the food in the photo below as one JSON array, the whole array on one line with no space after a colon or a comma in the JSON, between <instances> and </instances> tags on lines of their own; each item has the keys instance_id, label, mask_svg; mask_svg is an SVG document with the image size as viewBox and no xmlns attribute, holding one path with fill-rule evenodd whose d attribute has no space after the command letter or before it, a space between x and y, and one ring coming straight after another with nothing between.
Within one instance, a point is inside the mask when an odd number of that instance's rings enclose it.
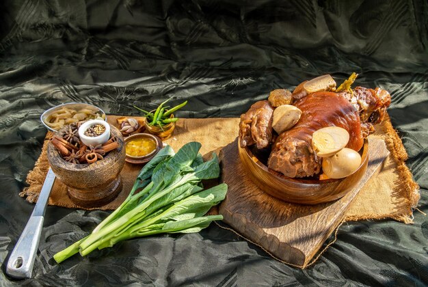
<instances>
[{"instance_id":1,"label":"dark green patterned fabric draped behind and beneath the food","mask_svg":"<svg viewBox=\"0 0 428 287\"><path fill-rule=\"evenodd\" d=\"M18 193L46 133L39 117L62 102L137 115L133 104L187 99L180 117L237 117L275 88L326 73L340 82L355 71L358 85L391 92L388 112L428 213L427 21L426 0L1 1L0 285L427 285L428 219L417 211L413 225L346 223L302 271L215 225L57 265L52 255L108 213L49 206L34 278L5 275L34 208Z\"/></svg>"}]
</instances>

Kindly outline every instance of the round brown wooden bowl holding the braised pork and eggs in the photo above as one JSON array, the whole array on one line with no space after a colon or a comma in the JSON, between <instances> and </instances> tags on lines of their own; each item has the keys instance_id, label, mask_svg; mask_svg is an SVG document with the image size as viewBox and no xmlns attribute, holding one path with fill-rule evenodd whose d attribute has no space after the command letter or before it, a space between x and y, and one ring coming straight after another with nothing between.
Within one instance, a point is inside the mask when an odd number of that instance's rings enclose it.
<instances>
[{"instance_id":1,"label":"round brown wooden bowl holding the braised pork and eggs","mask_svg":"<svg viewBox=\"0 0 428 287\"><path fill-rule=\"evenodd\" d=\"M338 200L358 183L369 163L369 141L365 139L360 167L350 176L329 180L289 178L267 167L262 156L256 156L250 148L241 148L239 143L238 148L245 172L261 190L280 200L296 204L320 204Z\"/></svg>"}]
</instances>

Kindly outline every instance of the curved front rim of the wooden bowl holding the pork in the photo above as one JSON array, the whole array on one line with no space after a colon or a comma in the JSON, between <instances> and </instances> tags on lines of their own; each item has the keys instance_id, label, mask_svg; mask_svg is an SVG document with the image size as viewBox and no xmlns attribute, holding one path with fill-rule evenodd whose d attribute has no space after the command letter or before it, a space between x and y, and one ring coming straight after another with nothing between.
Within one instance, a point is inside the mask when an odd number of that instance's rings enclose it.
<instances>
[{"instance_id":1,"label":"curved front rim of the wooden bowl holding the pork","mask_svg":"<svg viewBox=\"0 0 428 287\"><path fill-rule=\"evenodd\" d=\"M239 140L238 143L238 147L241 148L241 141ZM245 146L245 148L241 148L243 150L245 150L245 153L247 154L247 156L254 162L256 163L256 165L260 168L263 169L265 172L269 172L270 174L272 174L273 176L276 176L278 178L281 178L282 180L288 180L291 182L297 182L297 183L303 183L303 184L308 184L308 185L322 185L322 184L327 184L327 183L331 183L331 182L340 182L342 180L344 180L345 178L330 178L327 180L314 180L314 179L305 179L305 178L290 178L288 176L284 176L284 174L281 174L280 172L276 172L273 169L270 169L269 167L267 167L264 163L262 163L250 150L250 148L248 148L248 146ZM362 167L364 167L364 164L366 163L366 161L369 159L369 139L365 138L364 139L364 143L362 145L362 155L361 155L361 163L360 166L358 167L358 169L356 169L356 172L358 170L360 170Z\"/></svg>"}]
</instances>

